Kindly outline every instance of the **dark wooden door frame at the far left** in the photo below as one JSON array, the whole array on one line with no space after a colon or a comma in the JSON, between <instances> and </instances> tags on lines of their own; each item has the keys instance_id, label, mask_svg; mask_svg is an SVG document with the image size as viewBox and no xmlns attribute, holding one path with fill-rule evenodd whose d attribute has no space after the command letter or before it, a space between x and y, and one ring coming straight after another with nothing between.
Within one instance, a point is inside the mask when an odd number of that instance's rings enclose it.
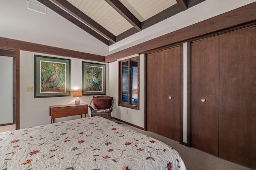
<instances>
[{"instance_id":1,"label":"dark wooden door frame at the far left","mask_svg":"<svg viewBox=\"0 0 256 170\"><path fill-rule=\"evenodd\" d=\"M13 123L16 129L20 129L20 50L0 49L0 55L13 57Z\"/></svg>"}]
</instances>

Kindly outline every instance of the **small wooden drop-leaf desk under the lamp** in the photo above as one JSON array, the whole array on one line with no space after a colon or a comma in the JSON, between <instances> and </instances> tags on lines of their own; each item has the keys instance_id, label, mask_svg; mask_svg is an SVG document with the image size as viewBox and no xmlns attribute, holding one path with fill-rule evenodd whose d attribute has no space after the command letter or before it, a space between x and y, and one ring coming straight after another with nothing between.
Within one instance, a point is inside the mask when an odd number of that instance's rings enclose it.
<instances>
[{"instance_id":1,"label":"small wooden drop-leaf desk under the lamp","mask_svg":"<svg viewBox=\"0 0 256 170\"><path fill-rule=\"evenodd\" d=\"M81 115L81 118L82 118L82 115L84 114L84 117L86 117L87 113L88 113L88 105L83 103L79 105L66 104L66 105L50 106L51 123L54 123L55 119L59 117Z\"/></svg>"}]
</instances>

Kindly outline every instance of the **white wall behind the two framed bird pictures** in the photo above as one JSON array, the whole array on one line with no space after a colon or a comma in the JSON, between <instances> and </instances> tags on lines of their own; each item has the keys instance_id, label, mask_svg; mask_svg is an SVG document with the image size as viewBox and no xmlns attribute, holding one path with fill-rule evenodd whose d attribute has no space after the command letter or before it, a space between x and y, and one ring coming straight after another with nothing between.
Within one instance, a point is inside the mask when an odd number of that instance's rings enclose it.
<instances>
[{"instance_id":1,"label":"white wall behind the two framed bird pictures","mask_svg":"<svg viewBox=\"0 0 256 170\"><path fill-rule=\"evenodd\" d=\"M43 55L49 57L58 57L71 59L71 91L82 90L82 59L68 57L59 57L41 53L32 53L20 51L20 128L32 127L36 125L49 124L51 122L49 115L49 106L74 104L72 97L55 98L34 98L34 92L27 92L28 86L34 86L34 55ZM90 61L91 62L91 61ZM99 62L95 62L99 63ZM108 64L106 64L106 94L108 94ZM79 98L81 103L89 104L92 96L83 96ZM90 113L90 109L88 109ZM90 116L87 115L87 116ZM55 122L80 118L78 116L63 117L55 119Z\"/></svg>"}]
</instances>

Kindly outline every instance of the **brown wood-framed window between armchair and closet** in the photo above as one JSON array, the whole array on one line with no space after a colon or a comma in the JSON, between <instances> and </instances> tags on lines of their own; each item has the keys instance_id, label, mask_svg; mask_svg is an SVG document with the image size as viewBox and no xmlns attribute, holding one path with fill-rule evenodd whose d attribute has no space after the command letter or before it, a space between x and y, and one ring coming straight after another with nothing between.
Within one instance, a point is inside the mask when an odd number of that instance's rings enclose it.
<instances>
[{"instance_id":1,"label":"brown wood-framed window between armchair and closet","mask_svg":"<svg viewBox=\"0 0 256 170\"><path fill-rule=\"evenodd\" d=\"M138 56L119 61L118 106L139 109Z\"/></svg>"}]
</instances>

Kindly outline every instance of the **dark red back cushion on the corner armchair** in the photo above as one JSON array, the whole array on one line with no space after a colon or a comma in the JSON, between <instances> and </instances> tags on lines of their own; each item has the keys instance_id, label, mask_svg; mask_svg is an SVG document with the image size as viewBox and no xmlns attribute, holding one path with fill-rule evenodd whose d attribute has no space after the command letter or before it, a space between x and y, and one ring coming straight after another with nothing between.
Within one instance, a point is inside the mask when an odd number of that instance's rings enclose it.
<instances>
[{"instance_id":1,"label":"dark red back cushion on the corner armchair","mask_svg":"<svg viewBox=\"0 0 256 170\"><path fill-rule=\"evenodd\" d=\"M94 109L109 109L112 106L113 97L109 98L97 98L93 96L93 108Z\"/></svg>"}]
</instances>

